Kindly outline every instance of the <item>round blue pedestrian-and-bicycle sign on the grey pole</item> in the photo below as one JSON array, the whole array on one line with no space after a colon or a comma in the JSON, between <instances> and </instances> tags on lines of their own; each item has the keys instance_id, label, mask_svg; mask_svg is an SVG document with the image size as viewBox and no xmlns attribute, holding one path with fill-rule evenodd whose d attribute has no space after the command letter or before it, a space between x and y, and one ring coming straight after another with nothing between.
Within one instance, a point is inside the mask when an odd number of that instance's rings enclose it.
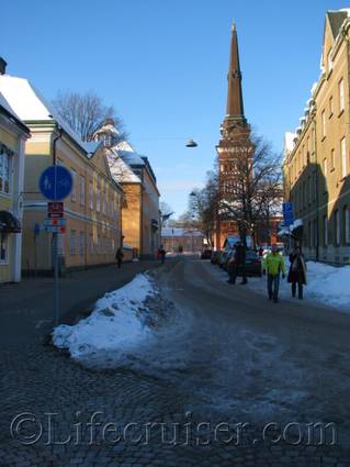
<instances>
[{"instance_id":1,"label":"round blue pedestrian-and-bicycle sign on the grey pole","mask_svg":"<svg viewBox=\"0 0 350 467\"><path fill-rule=\"evenodd\" d=\"M66 167L50 166L41 175L38 189L48 200L63 200L72 189L72 176Z\"/></svg>"}]
</instances>

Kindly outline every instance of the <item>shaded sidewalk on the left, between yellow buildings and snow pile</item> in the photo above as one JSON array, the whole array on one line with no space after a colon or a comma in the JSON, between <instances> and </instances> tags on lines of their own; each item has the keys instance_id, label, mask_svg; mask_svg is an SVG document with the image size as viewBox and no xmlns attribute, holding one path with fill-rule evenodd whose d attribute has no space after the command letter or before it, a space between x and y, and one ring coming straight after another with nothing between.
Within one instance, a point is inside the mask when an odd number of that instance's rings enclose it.
<instances>
[{"instance_id":1,"label":"shaded sidewalk on the left, between yellow buildings and snow pile","mask_svg":"<svg viewBox=\"0 0 350 467\"><path fill-rule=\"evenodd\" d=\"M60 323L74 323L92 310L105 292L131 281L138 273L159 266L156 260L125 263L71 273L59 279ZM53 278L26 278L0 287L0 347L44 342L53 329Z\"/></svg>"}]
</instances>

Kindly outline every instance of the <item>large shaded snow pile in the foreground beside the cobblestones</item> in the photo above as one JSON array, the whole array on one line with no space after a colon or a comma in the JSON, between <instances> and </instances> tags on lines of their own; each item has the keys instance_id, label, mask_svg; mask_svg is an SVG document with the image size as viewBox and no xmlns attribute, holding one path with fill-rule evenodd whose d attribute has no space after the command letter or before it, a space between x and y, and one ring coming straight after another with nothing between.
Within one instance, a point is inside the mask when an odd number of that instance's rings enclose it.
<instances>
[{"instance_id":1,"label":"large shaded snow pile in the foreground beside the cobblestones","mask_svg":"<svg viewBox=\"0 0 350 467\"><path fill-rule=\"evenodd\" d=\"M74 326L56 327L54 345L69 349L77 359L99 351L117 349L123 354L151 336L144 302L156 294L150 277L137 275L121 289L105 293L86 320Z\"/></svg>"}]
</instances>

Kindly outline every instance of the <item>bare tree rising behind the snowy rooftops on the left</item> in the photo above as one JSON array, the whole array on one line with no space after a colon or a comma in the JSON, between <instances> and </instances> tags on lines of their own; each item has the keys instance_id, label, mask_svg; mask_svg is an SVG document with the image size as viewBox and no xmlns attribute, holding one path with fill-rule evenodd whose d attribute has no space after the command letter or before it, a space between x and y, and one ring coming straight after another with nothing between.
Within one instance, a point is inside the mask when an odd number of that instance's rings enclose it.
<instances>
[{"instance_id":1,"label":"bare tree rising behind the snowy rooftops on the left","mask_svg":"<svg viewBox=\"0 0 350 467\"><path fill-rule=\"evenodd\" d=\"M113 105L104 105L103 100L93 91L86 93L59 91L53 104L58 114L81 137L91 141L94 132L108 119L112 119L118 132L116 142L126 140L122 119L116 114Z\"/></svg>"}]
</instances>

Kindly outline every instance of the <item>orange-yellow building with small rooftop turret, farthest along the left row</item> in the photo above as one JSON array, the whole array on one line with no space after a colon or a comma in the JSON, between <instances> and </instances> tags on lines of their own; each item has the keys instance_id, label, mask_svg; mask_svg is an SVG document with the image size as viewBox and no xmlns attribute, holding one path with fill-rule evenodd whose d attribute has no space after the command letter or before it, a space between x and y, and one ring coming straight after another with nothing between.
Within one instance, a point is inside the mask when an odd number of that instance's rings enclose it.
<instances>
[{"instance_id":1,"label":"orange-yellow building with small rooftop turret, farthest along the left row","mask_svg":"<svg viewBox=\"0 0 350 467\"><path fill-rule=\"evenodd\" d=\"M111 173L124 190L123 242L143 258L154 258L160 246L160 211L157 179L145 156L125 141L116 143L109 120L95 138L104 142Z\"/></svg>"}]
</instances>

